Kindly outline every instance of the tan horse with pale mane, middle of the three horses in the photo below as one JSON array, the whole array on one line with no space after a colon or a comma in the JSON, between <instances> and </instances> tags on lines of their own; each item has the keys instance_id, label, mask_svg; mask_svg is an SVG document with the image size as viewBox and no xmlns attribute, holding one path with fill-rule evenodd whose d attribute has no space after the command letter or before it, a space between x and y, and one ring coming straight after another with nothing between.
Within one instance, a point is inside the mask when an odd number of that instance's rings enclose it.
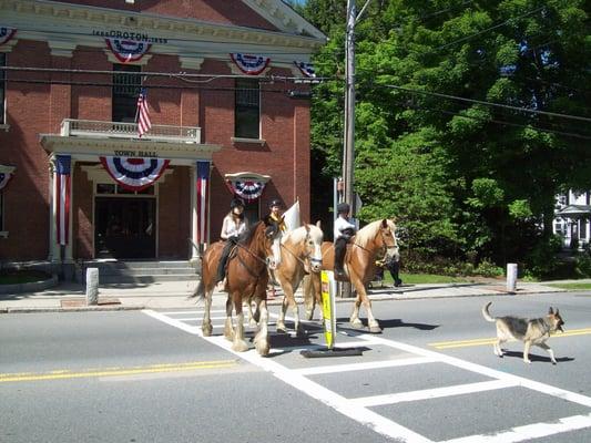
<instances>
[{"instance_id":1,"label":"tan horse with pale mane, middle of the three horses","mask_svg":"<svg viewBox=\"0 0 591 443\"><path fill-rule=\"evenodd\" d=\"M294 329L302 334L299 311L294 292L307 274L318 274L323 266L323 231L318 226L304 225L282 238L282 262L275 269L275 278L282 286L284 297L277 320L277 331L286 332L285 312L292 307Z\"/></svg>"}]
</instances>

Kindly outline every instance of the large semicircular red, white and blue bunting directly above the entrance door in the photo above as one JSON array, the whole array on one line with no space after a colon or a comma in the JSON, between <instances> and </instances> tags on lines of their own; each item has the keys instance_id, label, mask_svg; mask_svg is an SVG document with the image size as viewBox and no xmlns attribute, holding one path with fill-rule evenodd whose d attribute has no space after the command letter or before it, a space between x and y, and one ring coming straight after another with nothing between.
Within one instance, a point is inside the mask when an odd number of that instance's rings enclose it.
<instances>
[{"instance_id":1,"label":"large semicircular red, white and blue bunting directly above the entrance door","mask_svg":"<svg viewBox=\"0 0 591 443\"><path fill-rule=\"evenodd\" d=\"M129 190L142 190L153 185L171 162L163 158L100 158L109 175Z\"/></svg>"}]
</instances>

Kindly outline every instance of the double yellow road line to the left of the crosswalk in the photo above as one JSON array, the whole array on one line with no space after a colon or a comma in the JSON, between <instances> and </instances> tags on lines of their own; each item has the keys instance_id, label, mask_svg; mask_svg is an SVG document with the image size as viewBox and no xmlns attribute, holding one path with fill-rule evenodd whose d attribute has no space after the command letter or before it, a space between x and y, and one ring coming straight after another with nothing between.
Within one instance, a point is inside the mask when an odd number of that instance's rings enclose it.
<instances>
[{"instance_id":1,"label":"double yellow road line to the left of the crosswalk","mask_svg":"<svg viewBox=\"0 0 591 443\"><path fill-rule=\"evenodd\" d=\"M225 369L237 365L236 360L215 360L215 361L192 361L186 363L165 363L152 364L147 367L132 367L132 368L110 368L96 370L55 370L40 373L20 372L20 373L0 373L0 383L18 382L18 381L41 381L41 380L65 380L65 379L83 379L93 377L118 377L118 375L137 375L144 373L161 373L161 372L180 372L194 371L202 369Z\"/></svg>"}]
</instances>

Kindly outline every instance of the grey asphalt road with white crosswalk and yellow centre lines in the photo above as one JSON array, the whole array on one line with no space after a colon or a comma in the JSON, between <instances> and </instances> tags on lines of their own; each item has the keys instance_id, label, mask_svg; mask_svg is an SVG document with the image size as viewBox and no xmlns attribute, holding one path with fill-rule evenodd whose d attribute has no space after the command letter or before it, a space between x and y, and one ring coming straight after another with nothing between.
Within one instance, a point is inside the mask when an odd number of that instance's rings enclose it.
<instances>
[{"instance_id":1,"label":"grey asphalt road with white crosswalk and yellow centre lines","mask_svg":"<svg viewBox=\"0 0 591 443\"><path fill-rule=\"evenodd\" d=\"M558 365L539 348L523 363L521 343L493 356L487 301L497 316L558 306ZM591 293L389 300L374 312L381 334L348 329L350 303L337 303L337 346L364 352L324 359L299 353L324 344L317 322L304 339L274 333L259 358L230 351L222 312L200 337L200 308L1 316L0 441L591 441Z\"/></svg>"}]
</instances>

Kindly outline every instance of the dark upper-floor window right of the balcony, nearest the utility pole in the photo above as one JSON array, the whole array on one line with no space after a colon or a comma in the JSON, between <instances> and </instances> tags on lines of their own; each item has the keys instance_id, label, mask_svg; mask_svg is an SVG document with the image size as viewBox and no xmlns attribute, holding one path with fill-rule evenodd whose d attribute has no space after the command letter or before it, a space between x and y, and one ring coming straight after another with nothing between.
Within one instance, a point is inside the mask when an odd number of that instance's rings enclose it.
<instances>
[{"instance_id":1,"label":"dark upper-floor window right of the balcony, nearest the utility pole","mask_svg":"<svg viewBox=\"0 0 591 443\"><path fill-rule=\"evenodd\" d=\"M257 80L236 80L234 136L261 138L261 91Z\"/></svg>"}]
</instances>

